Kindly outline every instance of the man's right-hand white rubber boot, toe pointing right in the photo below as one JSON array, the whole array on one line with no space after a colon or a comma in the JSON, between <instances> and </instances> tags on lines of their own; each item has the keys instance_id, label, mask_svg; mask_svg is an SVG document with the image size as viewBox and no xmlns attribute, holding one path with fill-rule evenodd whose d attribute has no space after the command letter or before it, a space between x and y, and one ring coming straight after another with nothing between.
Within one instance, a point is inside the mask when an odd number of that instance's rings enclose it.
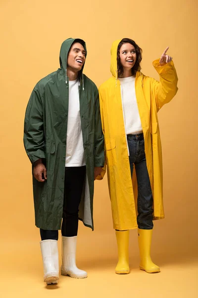
<instances>
[{"instance_id":1,"label":"man's right-hand white rubber boot, toe pointing right","mask_svg":"<svg viewBox=\"0 0 198 298\"><path fill-rule=\"evenodd\" d=\"M76 267L76 240L77 236L62 236L62 266L61 275L73 278L86 278L87 272Z\"/></svg>"}]
</instances>

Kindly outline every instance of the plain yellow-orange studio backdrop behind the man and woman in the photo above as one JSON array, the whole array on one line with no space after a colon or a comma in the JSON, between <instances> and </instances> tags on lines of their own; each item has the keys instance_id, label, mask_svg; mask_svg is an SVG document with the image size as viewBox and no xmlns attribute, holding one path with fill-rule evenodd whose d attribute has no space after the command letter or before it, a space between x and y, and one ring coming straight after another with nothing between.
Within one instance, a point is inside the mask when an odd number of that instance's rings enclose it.
<instances>
[{"instance_id":1,"label":"plain yellow-orange studio backdrop behind the man and woman","mask_svg":"<svg viewBox=\"0 0 198 298\"><path fill-rule=\"evenodd\" d=\"M24 297L58 297L74 289L73 297L124 294L143 297L145 293L148 296L158 293L160 297L175 297L175 294L187 297L187 293L192 293L195 295L192 297L196 297L197 1L1 0L0 14L2 297L11 297L15 292ZM34 225L31 164L23 147L23 121L33 87L59 67L60 46L68 37L86 41L85 74L98 87L111 75L110 47L115 39L134 39L143 49L142 72L156 79L152 61L169 46L167 54L173 57L179 91L158 114L165 219L154 222L152 256L162 272L148 275L138 270L137 230L133 230L130 234L131 274L114 274L117 248L105 176L103 181L95 183L95 231L81 223L79 227L77 260L88 270L89 278L61 277L57 292L50 292L42 281L40 235ZM60 256L60 237L58 245Z\"/></svg>"}]
</instances>

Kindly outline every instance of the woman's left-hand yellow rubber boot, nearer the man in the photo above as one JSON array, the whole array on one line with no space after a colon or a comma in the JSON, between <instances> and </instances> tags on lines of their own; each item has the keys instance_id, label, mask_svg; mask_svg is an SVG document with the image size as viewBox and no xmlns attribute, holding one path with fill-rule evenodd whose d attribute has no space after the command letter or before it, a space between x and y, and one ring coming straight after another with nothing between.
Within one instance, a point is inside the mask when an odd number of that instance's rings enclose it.
<instances>
[{"instance_id":1,"label":"woman's left-hand yellow rubber boot, nearer the man","mask_svg":"<svg viewBox=\"0 0 198 298\"><path fill-rule=\"evenodd\" d=\"M127 274L129 269L129 230L115 231L118 246L118 263L115 268L117 274Z\"/></svg>"}]
</instances>

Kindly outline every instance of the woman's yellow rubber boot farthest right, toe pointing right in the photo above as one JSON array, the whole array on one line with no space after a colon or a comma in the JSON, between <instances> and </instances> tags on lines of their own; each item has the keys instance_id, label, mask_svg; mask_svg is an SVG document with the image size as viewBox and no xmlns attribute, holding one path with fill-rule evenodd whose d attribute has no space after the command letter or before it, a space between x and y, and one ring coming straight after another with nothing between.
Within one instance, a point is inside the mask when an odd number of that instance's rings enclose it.
<instances>
[{"instance_id":1,"label":"woman's yellow rubber boot farthest right, toe pointing right","mask_svg":"<svg viewBox=\"0 0 198 298\"><path fill-rule=\"evenodd\" d=\"M155 265L150 258L150 246L152 239L152 229L138 228L138 242L140 249L140 269L148 273L159 272L160 268Z\"/></svg>"}]
</instances>

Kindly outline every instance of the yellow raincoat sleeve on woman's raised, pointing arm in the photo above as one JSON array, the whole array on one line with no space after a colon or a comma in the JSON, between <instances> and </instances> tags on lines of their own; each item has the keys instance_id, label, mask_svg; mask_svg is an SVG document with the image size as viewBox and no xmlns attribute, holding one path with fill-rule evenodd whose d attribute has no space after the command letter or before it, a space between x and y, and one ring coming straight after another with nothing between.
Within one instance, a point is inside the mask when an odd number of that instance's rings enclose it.
<instances>
[{"instance_id":1,"label":"yellow raincoat sleeve on woman's raised, pointing arm","mask_svg":"<svg viewBox=\"0 0 198 298\"><path fill-rule=\"evenodd\" d=\"M159 82L152 79L152 92L155 96L155 101L158 109L170 102L177 93L177 73L173 61L160 66L159 59L153 62L153 67L159 74Z\"/></svg>"}]
</instances>

